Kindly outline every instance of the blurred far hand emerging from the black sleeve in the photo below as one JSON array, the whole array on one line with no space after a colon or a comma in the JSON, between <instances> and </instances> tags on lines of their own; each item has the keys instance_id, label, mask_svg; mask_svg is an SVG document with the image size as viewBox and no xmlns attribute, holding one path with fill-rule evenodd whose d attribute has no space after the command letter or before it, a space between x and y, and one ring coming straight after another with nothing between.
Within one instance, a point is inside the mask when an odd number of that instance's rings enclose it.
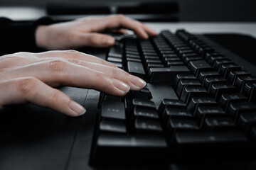
<instances>
[{"instance_id":1,"label":"blurred far hand emerging from the black sleeve","mask_svg":"<svg viewBox=\"0 0 256 170\"><path fill-rule=\"evenodd\" d=\"M36 29L36 44L47 50L68 50L83 46L109 47L114 45L114 38L99 32L104 30L126 33L128 28L139 38L146 39L157 33L139 21L125 16L107 16L104 18L81 18L75 21L39 26Z\"/></svg>"}]
</instances>

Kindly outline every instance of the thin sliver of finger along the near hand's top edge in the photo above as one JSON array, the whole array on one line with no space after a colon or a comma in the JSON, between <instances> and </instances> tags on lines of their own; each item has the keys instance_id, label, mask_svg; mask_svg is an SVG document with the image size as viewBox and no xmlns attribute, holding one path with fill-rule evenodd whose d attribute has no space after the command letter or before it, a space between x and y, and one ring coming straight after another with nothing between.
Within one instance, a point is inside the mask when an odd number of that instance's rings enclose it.
<instances>
[{"instance_id":1,"label":"thin sliver of finger along the near hand's top edge","mask_svg":"<svg viewBox=\"0 0 256 170\"><path fill-rule=\"evenodd\" d=\"M85 53L78 52L75 50L41 52L41 53L37 53L36 56L40 58L50 57L50 58L61 58L61 59L76 59L76 60L82 60L85 62L95 62L98 64L104 64L110 67L116 67L114 64L107 62L105 60L102 60L99 57L95 57L93 55L87 55Z\"/></svg>"}]
</instances>

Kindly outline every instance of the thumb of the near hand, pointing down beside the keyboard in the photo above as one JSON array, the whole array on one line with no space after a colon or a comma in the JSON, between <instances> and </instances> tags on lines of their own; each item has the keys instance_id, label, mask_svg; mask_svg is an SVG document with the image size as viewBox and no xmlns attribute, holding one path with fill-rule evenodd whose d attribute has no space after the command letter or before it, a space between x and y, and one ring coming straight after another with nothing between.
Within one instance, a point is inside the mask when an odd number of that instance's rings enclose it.
<instances>
[{"instance_id":1,"label":"thumb of the near hand, pointing down beside the keyboard","mask_svg":"<svg viewBox=\"0 0 256 170\"><path fill-rule=\"evenodd\" d=\"M11 79L1 83L0 86L0 89L4 89L1 91L0 108L10 104L29 102L52 108L69 116L79 116L85 113L85 108L69 96L33 77Z\"/></svg>"}]
</instances>

